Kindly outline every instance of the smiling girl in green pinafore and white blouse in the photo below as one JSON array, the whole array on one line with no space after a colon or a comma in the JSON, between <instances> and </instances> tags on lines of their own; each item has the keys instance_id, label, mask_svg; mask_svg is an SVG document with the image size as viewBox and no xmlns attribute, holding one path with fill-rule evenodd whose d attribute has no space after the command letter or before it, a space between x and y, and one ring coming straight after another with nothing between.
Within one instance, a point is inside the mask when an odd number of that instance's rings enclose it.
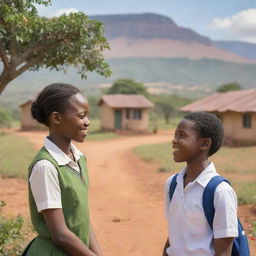
<instances>
[{"instance_id":1,"label":"smiling girl in green pinafore and white blouse","mask_svg":"<svg viewBox=\"0 0 256 256\"><path fill-rule=\"evenodd\" d=\"M49 128L44 146L29 167L29 207L38 236L26 256L103 256L88 209L86 158L73 144L87 136L88 102L80 91L51 84L31 107Z\"/></svg>"}]
</instances>

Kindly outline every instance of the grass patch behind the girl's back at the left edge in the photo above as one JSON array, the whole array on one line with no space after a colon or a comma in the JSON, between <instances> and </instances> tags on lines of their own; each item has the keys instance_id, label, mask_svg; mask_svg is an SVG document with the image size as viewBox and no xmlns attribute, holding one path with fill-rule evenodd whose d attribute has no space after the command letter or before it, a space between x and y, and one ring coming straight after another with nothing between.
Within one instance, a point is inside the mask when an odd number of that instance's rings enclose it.
<instances>
[{"instance_id":1,"label":"grass patch behind the girl's back at the left edge","mask_svg":"<svg viewBox=\"0 0 256 256\"><path fill-rule=\"evenodd\" d=\"M20 136L0 133L0 174L7 177L27 177L27 170L36 151Z\"/></svg>"}]
</instances>

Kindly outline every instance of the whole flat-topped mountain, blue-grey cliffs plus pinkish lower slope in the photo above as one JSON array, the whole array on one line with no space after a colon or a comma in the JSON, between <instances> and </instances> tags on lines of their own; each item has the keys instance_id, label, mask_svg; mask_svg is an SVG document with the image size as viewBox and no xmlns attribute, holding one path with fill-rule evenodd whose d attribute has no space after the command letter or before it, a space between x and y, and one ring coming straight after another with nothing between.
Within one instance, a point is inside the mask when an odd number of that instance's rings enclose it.
<instances>
[{"instance_id":1,"label":"whole flat-topped mountain, blue-grey cliffs plus pinkish lower slope","mask_svg":"<svg viewBox=\"0 0 256 256\"><path fill-rule=\"evenodd\" d=\"M192 29L178 26L171 18L153 14L99 15L90 18L104 23L111 51L106 58L163 57L219 59L255 63L236 52L215 45Z\"/></svg>"}]
</instances>

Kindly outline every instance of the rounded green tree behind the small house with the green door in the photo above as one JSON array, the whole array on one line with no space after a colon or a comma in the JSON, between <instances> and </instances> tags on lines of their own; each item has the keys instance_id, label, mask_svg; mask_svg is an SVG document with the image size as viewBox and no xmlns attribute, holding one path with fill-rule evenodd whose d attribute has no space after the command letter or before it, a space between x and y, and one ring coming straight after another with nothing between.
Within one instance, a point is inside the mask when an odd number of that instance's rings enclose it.
<instances>
[{"instance_id":1,"label":"rounded green tree behind the small house with the green door","mask_svg":"<svg viewBox=\"0 0 256 256\"><path fill-rule=\"evenodd\" d=\"M146 87L142 83L135 82L132 79L118 79L107 91L107 94L143 94L148 96Z\"/></svg>"}]
</instances>

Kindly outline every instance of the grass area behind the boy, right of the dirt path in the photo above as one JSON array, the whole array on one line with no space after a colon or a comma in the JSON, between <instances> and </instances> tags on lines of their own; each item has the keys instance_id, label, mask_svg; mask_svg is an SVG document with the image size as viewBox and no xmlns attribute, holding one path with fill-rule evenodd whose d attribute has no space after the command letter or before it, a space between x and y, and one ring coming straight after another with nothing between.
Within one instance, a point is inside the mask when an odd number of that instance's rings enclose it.
<instances>
[{"instance_id":1,"label":"grass area behind the boy, right of the dirt path","mask_svg":"<svg viewBox=\"0 0 256 256\"><path fill-rule=\"evenodd\" d=\"M184 163L176 163L172 159L171 143L142 145L134 148L134 152L144 161L159 164L159 171L178 172ZM223 147L211 160L217 170L225 176L231 175L231 182L237 192L239 204L256 202L255 181L246 175L256 174L256 147L228 148ZM235 174L232 179L232 174ZM241 177L241 179L237 179Z\"/></svg>"}]
</instances>

